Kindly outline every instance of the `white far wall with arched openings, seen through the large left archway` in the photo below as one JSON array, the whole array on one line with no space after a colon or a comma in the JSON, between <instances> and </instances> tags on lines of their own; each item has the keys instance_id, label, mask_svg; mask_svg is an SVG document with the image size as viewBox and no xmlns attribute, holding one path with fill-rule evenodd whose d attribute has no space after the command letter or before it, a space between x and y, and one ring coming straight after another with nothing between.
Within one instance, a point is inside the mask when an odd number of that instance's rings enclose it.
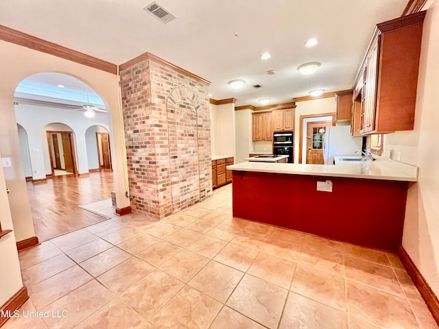
<instances>
[{"instance_id":1,"label":"white far wall with arched openings, seen through the large left archway","mask_svg":"<svg viewBox=\"0 0 439 329\"><path fill-rule=\"evenodd\" d=\"M102 113L87 118L82 111L19 103L15 106L15 114L17 123L27 132L34 180L46 178L52 172L47 145L48 130L73 132L78 172L88 173L85 132L93 125L108 128L108 114ZM34 151L37 149L40 151Z\"/></svg>"}]
</instances>

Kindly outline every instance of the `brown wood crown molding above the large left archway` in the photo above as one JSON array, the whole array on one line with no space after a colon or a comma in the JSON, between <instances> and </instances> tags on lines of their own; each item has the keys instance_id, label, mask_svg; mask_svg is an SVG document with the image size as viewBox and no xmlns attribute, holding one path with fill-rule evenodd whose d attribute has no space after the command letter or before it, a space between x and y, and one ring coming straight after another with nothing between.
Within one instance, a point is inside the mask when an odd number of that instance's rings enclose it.
<instances>
[{"instance_id":1,"label":"brown wood crown molding above the large left archway","mask_svg":"<svg viewBox=\"0 0 439 329\"><path fill-rule=\"evenodd\" d=\"M52 56L64 58L64 60L71 60L72 62L76 62L78 64L93 67L93 69L117 74L116 64L106 62L105 60L99 60L99 58L86 55L85 53L80 53L79 51L75 51L73 49L62 47L56 43L36 38L36 36L31 36L3 25L0 25L0 40L14 43L15 45L23 46L29 49L34 49L36 51L41 51L42 53L48 53Z\"/></svg>"}]
</instances>

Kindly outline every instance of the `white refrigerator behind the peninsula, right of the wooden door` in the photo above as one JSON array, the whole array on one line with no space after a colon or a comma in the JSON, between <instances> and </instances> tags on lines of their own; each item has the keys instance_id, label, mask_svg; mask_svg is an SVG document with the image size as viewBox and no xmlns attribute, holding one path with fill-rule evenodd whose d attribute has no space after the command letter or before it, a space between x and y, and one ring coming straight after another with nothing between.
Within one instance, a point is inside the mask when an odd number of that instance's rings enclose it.
<instances>
[{"instance_id":1,"label":"white refrigerator behind the peninsula, right of the wooden door","mask_svg":"<svg viewBox=\"0 0 439 329\"><path fill-rule=\"evenodd\" d=\"M351 136L351 126L327 127L324 134L324 164L334 164L334 156L361 156L362 137Z\"/></svg>"}]
</instances>

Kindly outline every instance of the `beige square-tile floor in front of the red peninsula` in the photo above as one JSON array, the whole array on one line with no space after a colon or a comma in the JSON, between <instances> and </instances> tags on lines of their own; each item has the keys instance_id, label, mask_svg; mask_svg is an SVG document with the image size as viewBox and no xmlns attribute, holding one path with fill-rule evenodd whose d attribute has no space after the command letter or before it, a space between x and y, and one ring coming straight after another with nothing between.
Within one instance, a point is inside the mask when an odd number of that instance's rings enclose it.
<instances>
[{"instance_id":1,"label":"beige square-tile floor in front of the red peninsula","mask_svg":"<svg viewBox=\"0 0 439 329\"><path fill-rule=\"evenodd\" d=\"M395 254L231 213L229 185L160 222L112 217L20 252L31 297L3 329L438 328Z\"/></svg>"}]
</instances>

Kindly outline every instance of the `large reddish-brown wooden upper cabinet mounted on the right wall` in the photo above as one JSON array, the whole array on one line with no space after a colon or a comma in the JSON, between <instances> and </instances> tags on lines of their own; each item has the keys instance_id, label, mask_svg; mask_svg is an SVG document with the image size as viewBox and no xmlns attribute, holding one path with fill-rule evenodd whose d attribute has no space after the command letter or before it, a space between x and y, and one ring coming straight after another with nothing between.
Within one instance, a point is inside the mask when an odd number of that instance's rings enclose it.
<instances>
[{"instance_id":1,"label":"large reddish-brown wooden upper cabinet mounted on the right wall","mask_svg":"<svg viewBox=\"0 0 439 329\"><path fill-rule=\"evenodd\" d=\"M353 84L354 136L413 130L425 12L378 24Z\"/></svg>"}]
</instances>

